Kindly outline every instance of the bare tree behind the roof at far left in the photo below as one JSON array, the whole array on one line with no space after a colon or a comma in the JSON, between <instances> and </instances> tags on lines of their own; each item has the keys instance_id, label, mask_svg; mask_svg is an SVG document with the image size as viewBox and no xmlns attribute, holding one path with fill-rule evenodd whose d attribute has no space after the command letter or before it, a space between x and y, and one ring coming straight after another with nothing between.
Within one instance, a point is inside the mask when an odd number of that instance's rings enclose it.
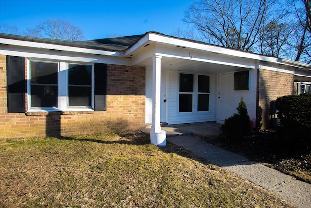
<instances>
[{"instance_id":1,"label":"bare tree behind the roof at far left","mask_svg":"<svg viewBox=\"0 0 311 208\"><path fill-rule=\"evenodd\" d=\"M84 39L83 30L75 26L69 20L48 19L37 24L34 28L27 28L26 36L36 38L51 38L70 41Z\"/></svg>"}]
</instances>

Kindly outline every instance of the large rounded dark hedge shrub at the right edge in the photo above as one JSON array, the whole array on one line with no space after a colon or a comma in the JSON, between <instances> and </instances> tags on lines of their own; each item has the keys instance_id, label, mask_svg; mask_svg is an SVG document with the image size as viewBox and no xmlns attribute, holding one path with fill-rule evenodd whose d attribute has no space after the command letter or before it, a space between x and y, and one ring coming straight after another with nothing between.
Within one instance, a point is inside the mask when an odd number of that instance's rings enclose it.
<instances>
[{"instance_id":1,"label":"large rounded dark hedge shrub at the right edge","mask_svg":"<svg viewBox=\"0 0 311 208\"><path fill-rule=\"evenodd\" d=\"M279 135L286 153L294 153L311 145L311 94L289 95L276 100L280 119Z\"/></svg>"}]
</instances>

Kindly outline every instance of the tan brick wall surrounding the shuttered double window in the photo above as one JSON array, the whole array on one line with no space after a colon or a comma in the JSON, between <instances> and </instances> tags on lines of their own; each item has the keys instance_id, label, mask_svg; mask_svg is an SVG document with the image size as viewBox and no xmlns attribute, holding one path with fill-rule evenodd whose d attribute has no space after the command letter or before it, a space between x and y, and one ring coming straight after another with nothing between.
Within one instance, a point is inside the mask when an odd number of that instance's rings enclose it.
<instances>
[{"instance_id":1,"label":"tan brick wall surrounding the shuttered double window","mask_svg":"<svg viewBox=\"0 0 311 208\"><path fill-rule=\"evenodd\" d=\"M0 55L0 138L93 134L144 125L144 68L107 66L107 111L7 113L6 56Z\"/></svg>"}]
</instances>

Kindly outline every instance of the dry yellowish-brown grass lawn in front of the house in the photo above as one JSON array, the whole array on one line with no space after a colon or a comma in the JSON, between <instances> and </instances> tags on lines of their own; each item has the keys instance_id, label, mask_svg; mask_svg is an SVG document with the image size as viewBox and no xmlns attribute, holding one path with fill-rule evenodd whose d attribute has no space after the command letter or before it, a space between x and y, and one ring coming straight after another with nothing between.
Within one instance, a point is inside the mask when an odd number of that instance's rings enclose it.
<instances>
[{"instance_id":1,"label":"dry yellowish-brown grass lawn in front of the house","mask_svg":"<svg viewBox=\"0 0 311 208\"><path fill-rule=\"evenodd\" d=\"M292 207L142 132L0 141L0 207Z\"/></svg>"}]
</instances>

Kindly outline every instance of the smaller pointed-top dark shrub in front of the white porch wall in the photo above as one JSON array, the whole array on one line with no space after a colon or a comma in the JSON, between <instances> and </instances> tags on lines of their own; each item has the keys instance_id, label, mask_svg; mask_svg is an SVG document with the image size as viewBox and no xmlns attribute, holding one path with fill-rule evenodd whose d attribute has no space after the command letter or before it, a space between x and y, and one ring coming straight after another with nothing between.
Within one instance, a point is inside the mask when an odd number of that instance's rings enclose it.
<instances>
[{"instance_id":1,"label":"smaller pointed-top dark shrub in front of the white porch wall","mask_svg":"<svg viewBox=\"0 0 311 208\"><path fill-rule=\"evenodd\" d=\"M243 136L247 136L250 133L249 116L243 97L240 99L237 111L238 113L225 119L225 123L221 127L227 142L241 140Z\"/></svg>"}]
</instances>

